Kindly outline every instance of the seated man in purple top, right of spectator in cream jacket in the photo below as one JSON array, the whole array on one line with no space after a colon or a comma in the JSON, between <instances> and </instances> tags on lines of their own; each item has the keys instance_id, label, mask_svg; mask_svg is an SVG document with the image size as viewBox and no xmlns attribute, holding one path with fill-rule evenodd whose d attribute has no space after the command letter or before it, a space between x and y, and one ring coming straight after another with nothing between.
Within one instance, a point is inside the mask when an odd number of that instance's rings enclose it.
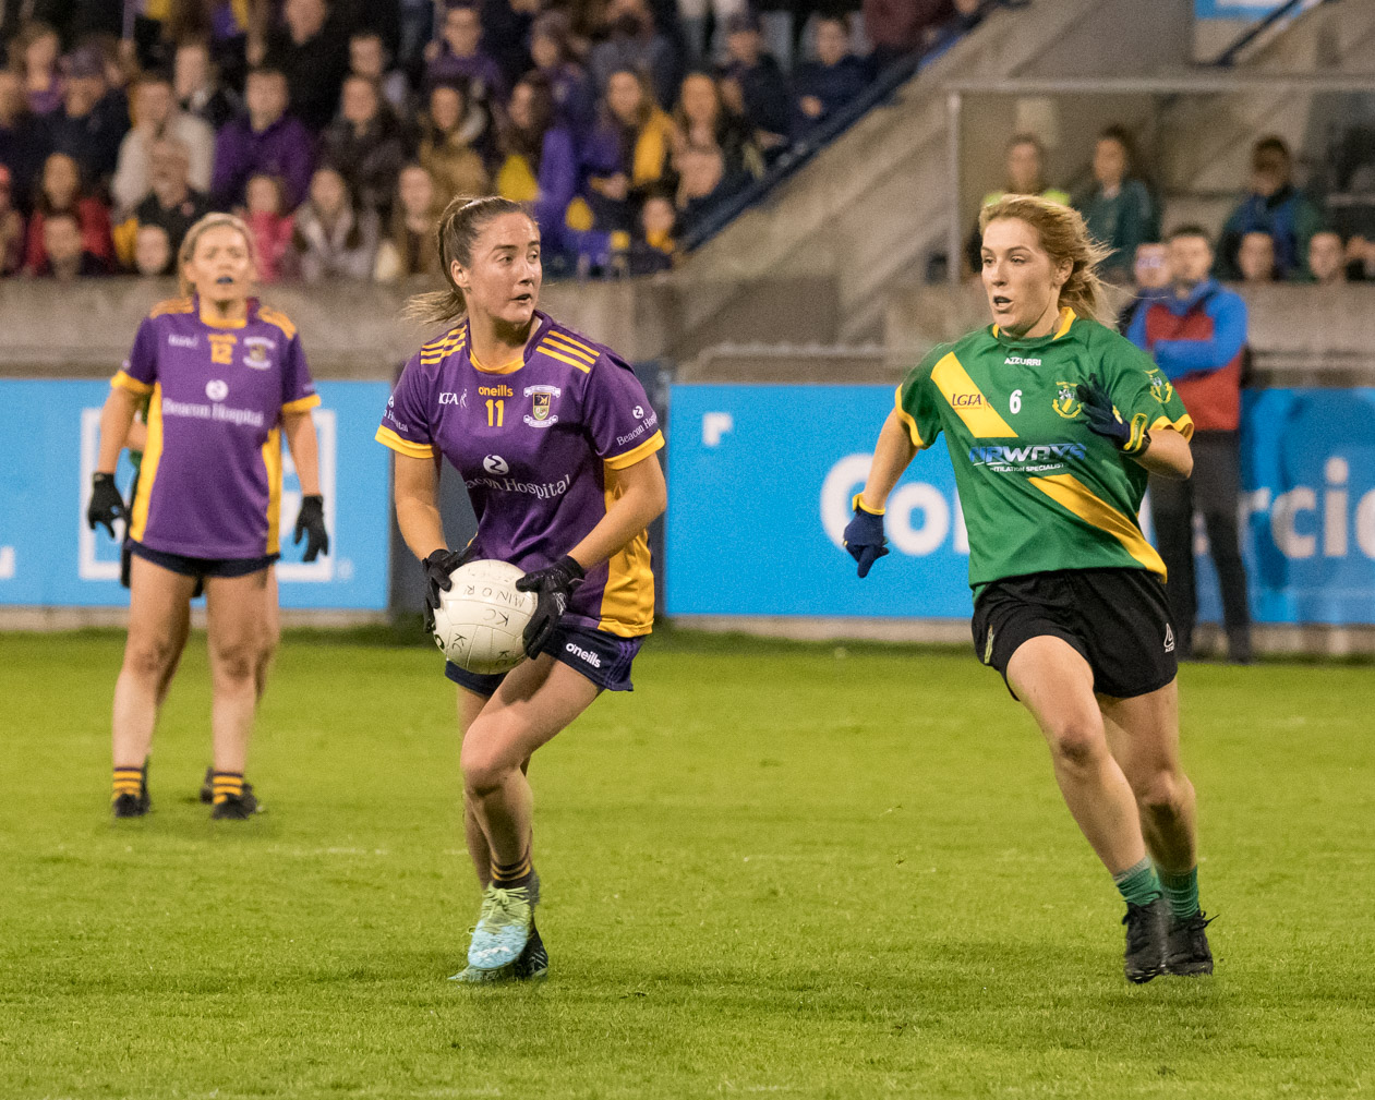
<instances>
[{"instance_id":1,"label":"seated man in purple top, right of spectator in cream jacket","mask_svg":"<svg viewBox=\"0 0 1375 1100\"><path fill-rule=\"evenodd\" d=\"M315 142L300 120L286 113L286 77L276 69L249 72L243 91L248 110L227 122L214 143L214 182L223 208L243 202L249 176L276 176L286 187L289 206L298 206L315 170Z\"/></svg>"}]
</instances>

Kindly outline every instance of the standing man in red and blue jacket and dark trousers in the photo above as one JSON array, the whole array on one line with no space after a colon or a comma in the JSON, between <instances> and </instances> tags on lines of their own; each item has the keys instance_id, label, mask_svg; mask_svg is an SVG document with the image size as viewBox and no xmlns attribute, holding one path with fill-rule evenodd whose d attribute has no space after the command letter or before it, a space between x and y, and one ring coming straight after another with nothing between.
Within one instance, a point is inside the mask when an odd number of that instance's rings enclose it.
<instances>
[{"instance_id":1,"label":"standing man in red and blue jacket and dark trousers","mask_svg":"<svg viewBox=\"0 0 1375 1100\"><path fill-rule=\"evenodd\" d=\"M1162 406L1173 386L1194 419L1194 476L1188 481L1152 476L1151 517L1169 569L1167 594L1180 657L1188 657L1194 644L1194 513L1199 512L1222 594L1228 657L1244 664L1251 660L1251 620L1236 506L1242 483L1246 302L1209 275L1213 245L1206 230L1174 230L1169 263L1173 293L1144 305L1128 337L1155 359L1159 373L1152 373L1151 385Z\"/></svg>"}]
</instances>

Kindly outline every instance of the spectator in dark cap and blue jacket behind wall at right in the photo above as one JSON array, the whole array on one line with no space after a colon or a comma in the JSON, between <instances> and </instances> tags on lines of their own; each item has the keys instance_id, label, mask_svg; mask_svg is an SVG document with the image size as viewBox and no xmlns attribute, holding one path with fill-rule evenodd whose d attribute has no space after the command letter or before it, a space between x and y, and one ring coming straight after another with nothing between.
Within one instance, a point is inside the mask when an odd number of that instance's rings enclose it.
<instances>
[{"instance_id":1,"label":"spectator in dark cap and blue jacket behind wall at right","mask_svg":"<svg viewBox=\"0 0 1375 1100\"><path fill-rule=\"evenodd\" d=\"M1308 242L1323 227L1323 216L1294 186L1294 158L1280 138L1262 138L1251 150L1251 190L1222 227L1217 245L1220 279L1239 279L1238 252L1248 232L1266 232L1275 239L1276 278L1308 274Z\"/></svg>"}]
</instances>

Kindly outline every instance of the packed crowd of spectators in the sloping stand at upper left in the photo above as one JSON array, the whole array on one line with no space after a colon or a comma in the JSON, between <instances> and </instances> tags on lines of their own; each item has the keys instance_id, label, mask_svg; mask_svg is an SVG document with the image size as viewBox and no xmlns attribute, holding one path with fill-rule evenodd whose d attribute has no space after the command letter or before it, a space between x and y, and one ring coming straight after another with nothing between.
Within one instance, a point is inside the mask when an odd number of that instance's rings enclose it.
<instances>
[{"instance_id":1,"label":"packed crowd of spectators in the sloping stand at upper left","mask_svg":"<svg viewBox=\"0 0 1375 1100\"><path fill-rule=\"evenodd\" d=\"M4 0L0 275L166 275L209 210L264 280L437 271L455 195L551 274L700 219L979 0Z\"/></svg>"}]
</instances>

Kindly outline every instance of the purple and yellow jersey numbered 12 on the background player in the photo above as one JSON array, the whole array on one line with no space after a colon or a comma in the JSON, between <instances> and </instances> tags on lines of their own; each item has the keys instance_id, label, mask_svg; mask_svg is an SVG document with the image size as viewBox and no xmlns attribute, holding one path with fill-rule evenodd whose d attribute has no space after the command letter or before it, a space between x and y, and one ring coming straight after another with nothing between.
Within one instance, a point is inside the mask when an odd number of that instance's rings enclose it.
<instances>
[{"instance_id":1,"label":"purple and yellow jersey numbered 12 on the background player","mask_svg":"<svg viewBox=\"0 0 1375 1100\"><path fill-rule=\"evenodd\" d=\"M296 326L256 300L231 327L194 297L165 301L110 385L148 397L129 538L194 558L278 553L279 424L320 403Z\"/></svg>"}]
</instances>

